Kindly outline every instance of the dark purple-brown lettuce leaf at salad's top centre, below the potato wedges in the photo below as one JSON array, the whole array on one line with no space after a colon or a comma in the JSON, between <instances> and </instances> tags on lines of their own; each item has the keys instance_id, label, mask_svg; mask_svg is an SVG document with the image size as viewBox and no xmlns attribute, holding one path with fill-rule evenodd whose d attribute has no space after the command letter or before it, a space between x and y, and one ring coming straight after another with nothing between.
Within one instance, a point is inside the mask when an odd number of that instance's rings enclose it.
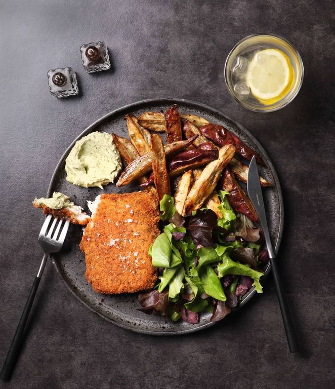
<instances>
[{"instance_id":1,"label":"dark purple-brown lettuce leaf at salad's top centre, below the potato wedges","mask_svg":"<svg viewBox=\"0 0 335 389\"><path fill-rule=\"evenodd\" d=\"M213 245L213 228L216 227L217 220L217 215L211 209L199 210L194 216L186 218L186 228L196 246L208 247Z\"/></svg>"}]
</instances>

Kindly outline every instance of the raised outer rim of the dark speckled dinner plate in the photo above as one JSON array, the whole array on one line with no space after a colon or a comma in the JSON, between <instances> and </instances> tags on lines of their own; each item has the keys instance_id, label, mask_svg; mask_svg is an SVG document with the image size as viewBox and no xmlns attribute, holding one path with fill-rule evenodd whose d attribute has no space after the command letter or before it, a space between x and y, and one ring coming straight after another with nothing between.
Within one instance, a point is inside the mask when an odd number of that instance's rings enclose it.
<instances>
[{"instance_id":1,"label":"raised outer rim of the dark speckled dinner plate","mask_svg":"<svg viewBox=\"0 0 335 389\"><path fill-rule=\"evenodd\" d=\"M61 169L61 167L64 164L64 161L65 161L65 159L66 159L66 157L68 155L68 153L70 152L70 150L72 149L73 145L75 144L75 142L77 140L79 140L83 136L88 135L92 131L97 130L99 128L99 126L102 125L107 119L112 119L113 116L116 116L116 115L118 115L118 114L120 114L122 112L124 114L126 114L126 113L128 113L128 112L130 112L132 110L136 110L136 109L140 109L140 108L146 109L147 106L160 105L160 104L173 104L173 103L184 104L184 105L187 105L190 108L194 108L194 109L205 111L205 112L207 112L210 115L216 115L216 116L219 116L220 118L222 118L223 120L231 122L241 132L243 132L253 143L255 143L256 146L258 147L258 149L261 151L261 153L265 156L267 167L271 171L272 176L274 178L274 186L276 188L276 197L277 197L277 201L278 201L278 204L279 204L279 218L278 218L279 226L278 226L278 234L276 236L275 247L274 247L275 254L277 254L278 250L279 250L281 238L282 238L282 231L283 231L283 221L284 221L283 199L282 199L282 193L281 193L281 188L280 188L278 176L276 174L276 171L274 169L274 166L273 166L270 158L268 157L268 154L266 153L266 151L262 147L262 145L259 143L259 141L252 134L250 134L249 131L247 131L241 124L239 124L238 122L230 119L229 116L223 114L222 112L218 111L217 109L215 109L213 107L210 107L210 106L202 104L202 103L194 102L194 101L191 101L191 100L187 100L187 99L156 98L156 99L141 100L141 101L137 101L137 102L134 102L134 103L131 103L131 104L128 104L128 105L124 105L124 106L122 106L120 108L114 109L113 111L111 111L111 112L105 114L104 116L102 116L100 119L96 120L94 123L92 123L90 126L88 126L85 130L83 130L73 140L73 142L69 145L69 147L63 153L63 155L62 155L61 159L59 160L59 162L58 162L58 164L57 164L57 166L56 166L56 168L54 170L54 173L52 175L52 178L51 178L51 181L50 181L50 184L49 184L49 187L48 187L48 197L52 196L52 188L53 188L53 186L55 184L55 180L57 179L57 176L59 174L59 170ZM200 326L191 327L191 328L188 328L188 329L169 331L169 332L158 332L158 331L151 331L149 329L142 329L140 327L136 328L135 326L128 325L125 322L119 322L119 321L116 321L116 320L112 320L111 318L109 318L109 317L101 314L100 312L98 312L97 309L95 309L94 306L90 305L88 302L83 300L82 296L80 296L79 293L76 293L75 290L73 290L73 288L71 287L69 282L67 282L67 280L65 279L65 277L63 275L63 271L62 271L62 269L60 268L60 266L58 264L58 261L55 260L53 255L51 255L51 258L52 258L52 263L55 266L58 275L60 276L62 281L65 283L65 285L68 287L68 289L71 291L71 293L73 293L78 298L78 300L81 303L83 303L85 306L87 306L93 313L99 315L103 319L105 319L105 320L107 320L107 321L109 321L109 322L111 322L111 323L113 323L113 324L115 324L115 325L117 325L119 327L131 330L131 331L139 332L139 333L148 334L148 335L183 335L183 334L187 334L187 333L196 332L196 331L208 328L208 327L212 327L213 325L215 325L217 323L217 322L207 322L207 323L204 323L204 324L202 324ZM264 269L264 276L262 277L263 280L269 275L270 271L271 271L271 265L270 265L270 263L268 263L266 265L265 269ZM238 310L239 308L244 306L246 304L246 302L249 301L255 294L257 294L257 292L256 292L255 288L253 288L252 290L250 290L248 292L248 294L243 298L243 300L238 304L238 306L232 310L232 313L236 312L236 310Z\"/></svg>"}]
</instances>

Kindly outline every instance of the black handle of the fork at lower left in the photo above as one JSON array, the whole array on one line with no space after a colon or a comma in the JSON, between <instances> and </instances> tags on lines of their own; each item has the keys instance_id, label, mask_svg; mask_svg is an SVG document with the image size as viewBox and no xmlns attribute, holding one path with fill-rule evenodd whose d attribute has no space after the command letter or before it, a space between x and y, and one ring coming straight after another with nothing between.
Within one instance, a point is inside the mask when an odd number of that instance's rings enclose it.
<instances>
[{"instance_id":1,"label":"black handle of the fork at lower left","mask_svg":"<svg viewBox=\"0 0 335 389\"><path fill-rule=\"evenodd\" d=\"M24 327L27 323L27 319L29 316L29 312L32 306L32 302L34 301L35 294L39 285L40 278L35 277L35 280L32 284L26 305L24 306L21 319L19 321L19 324L17 326L17 329L15 331L11 346L8 350L7 357L4 363L4 366L2 368L0 379L3 381L8 381L11 377L12 371L14 369L15 363L16 363L16 357L19 352L20 346L23 341L23 331Z\"/></svg>"}]
</instances>

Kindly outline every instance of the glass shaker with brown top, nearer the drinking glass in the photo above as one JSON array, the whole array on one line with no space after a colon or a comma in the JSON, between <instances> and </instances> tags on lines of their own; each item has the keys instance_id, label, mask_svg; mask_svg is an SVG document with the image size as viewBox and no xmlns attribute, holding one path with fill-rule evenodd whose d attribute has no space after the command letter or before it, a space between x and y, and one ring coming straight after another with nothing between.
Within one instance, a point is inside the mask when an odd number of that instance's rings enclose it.
<instances>
[{"instance_id":1,"label":"glass shaker with brown top, nearer the drinking glass","mask_svg":"<svg viewBox=\"0 0 335 389\"><path fill-rule=\"evenodd\" d=\"M80 47L82 66L89 73L108 70L110 61L108 49L104 42L89 43Z\"/></svg>"}]
</instances>

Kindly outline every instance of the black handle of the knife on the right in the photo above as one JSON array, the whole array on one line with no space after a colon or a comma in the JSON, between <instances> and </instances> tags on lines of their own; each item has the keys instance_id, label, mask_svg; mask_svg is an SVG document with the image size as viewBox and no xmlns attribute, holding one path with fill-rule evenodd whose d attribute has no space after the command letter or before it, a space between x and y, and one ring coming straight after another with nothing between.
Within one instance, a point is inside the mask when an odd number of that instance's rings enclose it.
<instances>
[{"instance_id":1,"label":"black handle of the knife on the right","mask_svg":"<svg viewBox=\"0 0 335 389\"><path fill-rule=\"evenodd\" d=\"M277 297L281 310L281 316L283 318L289 351L290 353L297 353L299 351L299 342L291 315L289 313L286 297L284 295L284 289L282 287L276 258L270 258L270 263L272 267L273 278L276 286Z\"/></svg>"}]
</instances>

